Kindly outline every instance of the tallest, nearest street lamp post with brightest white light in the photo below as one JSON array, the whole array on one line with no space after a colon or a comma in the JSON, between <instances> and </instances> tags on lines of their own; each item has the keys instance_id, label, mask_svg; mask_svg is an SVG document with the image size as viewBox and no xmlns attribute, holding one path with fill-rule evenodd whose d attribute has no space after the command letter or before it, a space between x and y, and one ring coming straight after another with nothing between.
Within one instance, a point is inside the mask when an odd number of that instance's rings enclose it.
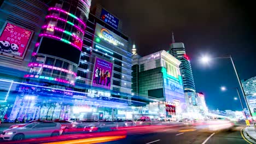
<instances>
[{"instance_id":1,"label":"tallest, nearest street lamp post with brightest white light","mask_svg":"<svg viewBox=\"0 0 256 144\"><path fill-rule=\"evenodd\" d=\"M241 88L241 91L242 91L242 94L243 94L243 98L244 98L245 101L246 101L246 106L247 106L247 108L248 108L248 110L249 110L249 113L250 113L250 115L252 116L252 120L253 120L253 115L252 115L251 109L249 108L249 104L248 104L248 101L247 101L247 99L246 99L246 94L245 94L245 91L243 91L243 86L242 86L240 77L239 77L239 75L238 75L238 73L237 73L236 66L235 66L235 64L234 64L234 61L233 61L233 59L232 59L232 56L229 55L229 56L216 57L216 58L229 58L229 59L230 59L232 65L233 65L233 68L234 68L234 70L235 70L236 78L237 78L237 81L238 81L239 86L240 86L240 88ZM211 58L208 58L208 57L203 57L203 58L202 58L202 61L203 61L203 62L208 62L208 61L210 61L210 60L211 60ZM239 93L239 92L238 92L238 93ZM256 130L254 121L253 121L253 126L254 126L254 130Z\"/></svg>"}]
</instances>

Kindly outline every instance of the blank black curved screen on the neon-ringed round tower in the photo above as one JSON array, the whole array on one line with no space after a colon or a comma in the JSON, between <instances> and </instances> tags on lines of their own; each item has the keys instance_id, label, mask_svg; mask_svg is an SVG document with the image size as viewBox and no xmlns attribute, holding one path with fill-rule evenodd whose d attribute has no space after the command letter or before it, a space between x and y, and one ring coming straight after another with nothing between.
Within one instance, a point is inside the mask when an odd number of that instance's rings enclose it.
<instances>
[{"instance_id":1,"label":"blank black curved screen on the neon-ringed round tower","mask_svg":"<svg viewBox=\"0 0 256 144\"><path fill-rule=\"evenodd\" d=\"M81 51L63 41L43 37L37 53L63 58L79 64Z\"/></svg>"}]
</instances>

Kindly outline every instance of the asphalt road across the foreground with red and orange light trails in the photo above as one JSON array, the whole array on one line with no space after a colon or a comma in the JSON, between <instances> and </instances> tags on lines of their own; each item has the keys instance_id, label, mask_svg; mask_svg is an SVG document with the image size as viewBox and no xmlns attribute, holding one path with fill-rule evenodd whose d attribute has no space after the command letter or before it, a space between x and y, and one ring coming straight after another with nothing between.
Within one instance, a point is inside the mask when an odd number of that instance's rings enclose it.
<instances>
[{"instance_id":1,"label":"asphalt road across the foreground with red and orange light trails","mask_svg":"<svg viewBox=\"0 0 256 144\"><path fill-rule=\"evenodd\" d=\"M59 137L25 140L19 143L248 143L241 135L241 129L245 125L224 127L228 124L230 123L175 123L121 127L118 131L68 134ZM7 142L5 141L5 143ZM8 143L15 143L15 141Z\"/></svg>"}]
</instances>

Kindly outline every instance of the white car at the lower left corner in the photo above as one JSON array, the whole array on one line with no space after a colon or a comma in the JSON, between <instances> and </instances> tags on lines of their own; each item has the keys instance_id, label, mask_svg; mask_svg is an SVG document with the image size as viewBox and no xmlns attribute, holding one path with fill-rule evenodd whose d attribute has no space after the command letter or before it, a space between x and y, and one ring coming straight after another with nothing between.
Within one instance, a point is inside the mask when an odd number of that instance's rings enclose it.
<instances>
[{"instance_id":1,"label":"white car at the lower left corner","mask_svg":"<svg viewBox=\"0 0 256 144\"><path fill-rule=\"evenodd\" d=\"M57 136L62 134L60 123L55 122L33 122L21 128L4 130L1 133L3 140L24 140L37 137Z\"/></svg>"}]
</instances>

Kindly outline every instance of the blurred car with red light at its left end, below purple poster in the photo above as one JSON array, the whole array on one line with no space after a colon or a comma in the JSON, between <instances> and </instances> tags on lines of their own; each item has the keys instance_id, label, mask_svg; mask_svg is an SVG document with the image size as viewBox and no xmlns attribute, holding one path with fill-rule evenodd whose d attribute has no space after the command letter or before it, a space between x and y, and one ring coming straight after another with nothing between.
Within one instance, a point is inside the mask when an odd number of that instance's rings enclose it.
<instances>
[{"instance_id":1,"label":"blurred car with red light at its left end, below purple poster","mask_svg":"<svg viewBox=\"0 0 256 144\"><path fill-rule=\"evenodd\" d=\"M97 123L92 123L84 127L84 131L110 131L117 130L118 123L112 121L98 121Z\"/></svg>"}]
</instances>

